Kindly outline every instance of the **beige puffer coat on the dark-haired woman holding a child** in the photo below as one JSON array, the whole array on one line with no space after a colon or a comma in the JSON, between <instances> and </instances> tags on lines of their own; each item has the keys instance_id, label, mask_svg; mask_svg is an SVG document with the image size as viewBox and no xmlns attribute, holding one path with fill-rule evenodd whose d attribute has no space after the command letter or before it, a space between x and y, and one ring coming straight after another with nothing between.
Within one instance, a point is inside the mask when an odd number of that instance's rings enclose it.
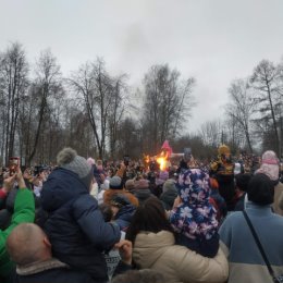
<instances>
[{"instance_id":1,"label":"beige puffer coat on the dark-haired woman holding a child","mask_svg":"<svg viewBox=\"0 0 283 283\"><path fill-rule=\"evenodd\" d=\"M134 262L140 269L161 272L167 283L225 282L229 266L221 249L214 258L206 258L174 243L168 231L142 232L134 244Z\"/></svg>"}]
</instances>

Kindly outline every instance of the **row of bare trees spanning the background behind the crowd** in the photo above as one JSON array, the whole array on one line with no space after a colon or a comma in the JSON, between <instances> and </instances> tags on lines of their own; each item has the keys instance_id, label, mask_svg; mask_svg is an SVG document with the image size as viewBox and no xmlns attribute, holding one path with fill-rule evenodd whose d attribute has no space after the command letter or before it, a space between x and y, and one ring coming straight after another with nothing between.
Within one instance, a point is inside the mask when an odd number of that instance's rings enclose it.
<instances>
[{"instance_id":1,"label":"row of bare trees spanning the background behind the crowd","mask_svg":"<svg viewBox=\"0 0 283 283\"><path fill-rule=\"evenodd\" d=\"M139 159L156 155L164 139L176 151L190 146L202 158L222 142L235 152L259 146L282 152L281 64L263 60L250 77L232 82L223 121L188 134L195 84L156 64L133 89L128 75L111 74L101 58L63 76L50 49L28 62L24 47L12 42L0 52L1 163L21 156L26 164L49 164L63 146L86 157Z\"/></svg>"}]
</instances>

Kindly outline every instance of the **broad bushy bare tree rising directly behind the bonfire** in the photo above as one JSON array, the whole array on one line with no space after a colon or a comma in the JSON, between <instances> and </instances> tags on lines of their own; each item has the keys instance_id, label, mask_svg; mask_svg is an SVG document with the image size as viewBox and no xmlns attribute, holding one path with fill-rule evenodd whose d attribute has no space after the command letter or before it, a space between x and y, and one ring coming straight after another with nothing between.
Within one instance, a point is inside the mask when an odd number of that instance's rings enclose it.
<instances>
[{"instance_id":1,"label":"broad bushy bare tree rising directly behind the bonfire","mask_svg":"<svg viewBox=\"0 0 283 283\"><path fill-rule=\"evenodd\" d=\"M168 65L153 65L144 78L145 103L144 136L151 150L157 150L167 138L175 138L194 106L194 79L180 79L176 70Z\"/></svg>"}]
</instances>

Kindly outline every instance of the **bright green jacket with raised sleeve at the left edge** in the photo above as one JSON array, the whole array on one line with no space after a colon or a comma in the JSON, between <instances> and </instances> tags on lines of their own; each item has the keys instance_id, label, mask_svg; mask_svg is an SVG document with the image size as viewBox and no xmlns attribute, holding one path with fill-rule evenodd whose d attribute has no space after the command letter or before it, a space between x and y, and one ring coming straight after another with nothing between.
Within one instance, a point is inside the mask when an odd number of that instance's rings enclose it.
<instances>
[{"instance_id":1,"label":"bright green jacket with raised sleeve at the left edge","mask_svg":"<svg viewBox=\"0 0 283 283\"><path fill-rule=\"evenodd\" d=\"M10 226L4 231L0 230L0 276L8 276L14 267L5 249L8 236L16 225L24 222L34 222L34 220L35 199L33 193L27 188L21 188L15 197L14 213Z\"/></svg>"}]
</instances>

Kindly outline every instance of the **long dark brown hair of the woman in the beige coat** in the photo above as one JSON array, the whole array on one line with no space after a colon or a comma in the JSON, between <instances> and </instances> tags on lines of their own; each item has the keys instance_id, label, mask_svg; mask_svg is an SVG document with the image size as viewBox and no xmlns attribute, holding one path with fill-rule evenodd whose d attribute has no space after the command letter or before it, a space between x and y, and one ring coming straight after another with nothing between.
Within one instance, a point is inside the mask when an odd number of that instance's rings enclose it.
<instances>
[{"instance_id":1,"label":"long dark brown hair of the woman in the beige coat","mask_svg":"<svg viewBox=\"0 0 283 283\"><path fill-rule=\"evenodd\" d=\"M157 197L149 197L133 216L126 238L134 243L140 231L158 233L162 230L173 233L162 202Z\"/></svg>"}]
</instances>

